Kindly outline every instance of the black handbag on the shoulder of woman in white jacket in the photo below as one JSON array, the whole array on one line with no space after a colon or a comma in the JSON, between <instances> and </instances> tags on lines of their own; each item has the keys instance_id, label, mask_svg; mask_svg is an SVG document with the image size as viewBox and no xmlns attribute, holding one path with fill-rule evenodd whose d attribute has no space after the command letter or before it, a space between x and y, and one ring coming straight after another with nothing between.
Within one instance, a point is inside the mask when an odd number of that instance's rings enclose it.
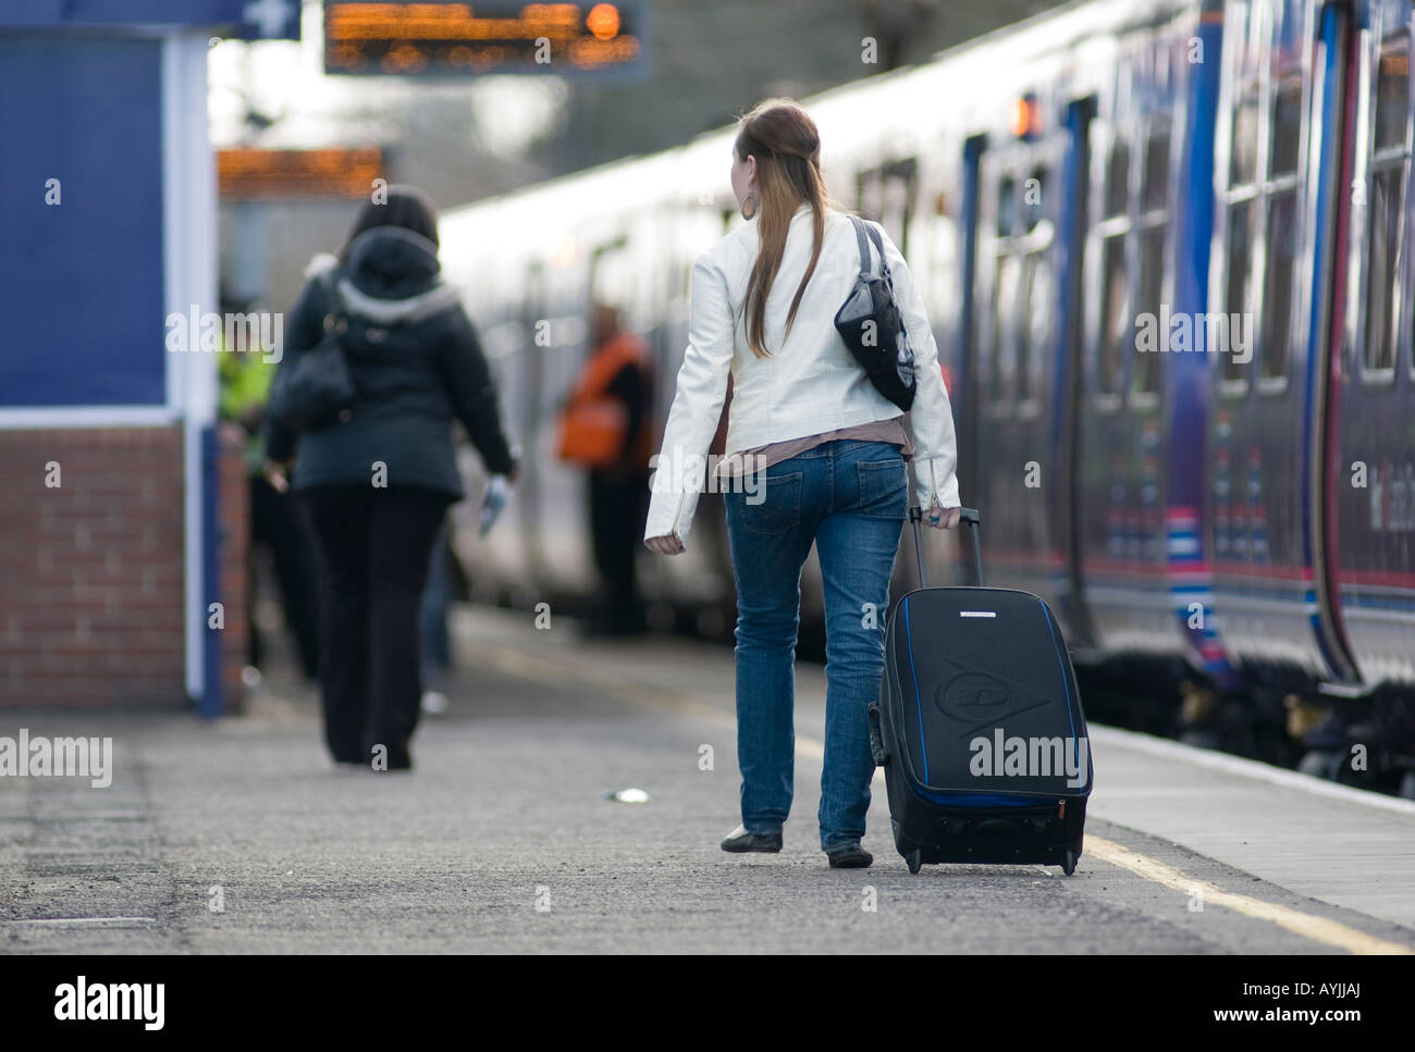
<instances>
[{"instance_id":1,"label":"black handbag on the shoulder of woman in white jacket","mask_svg":"<svg viewBox=\"0 0 1415 1052\"><path fill-rule=\"evenodd\" d=\"M855 225L855 236L860 246L860 276L845 298L845 305L835 314L835 329L879 393L907 413L914 404L914 392L918 389L914 376L914 348L910 346L908 334L904 331L903 311L894 300L894 283L884 260L884 242L873 223L866 223L853 215L850 222ZM880 253L883 273L879 277L872 273L866 233Z\"/></svg>"}]
</instances>

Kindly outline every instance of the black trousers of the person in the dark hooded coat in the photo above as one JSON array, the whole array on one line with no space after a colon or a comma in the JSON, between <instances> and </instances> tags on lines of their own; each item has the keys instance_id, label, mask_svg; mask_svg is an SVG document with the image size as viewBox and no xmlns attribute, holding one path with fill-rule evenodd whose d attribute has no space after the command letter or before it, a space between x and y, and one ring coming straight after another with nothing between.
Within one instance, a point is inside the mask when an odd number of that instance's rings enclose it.
<instances>
[{"instance_id":1,"label":"black trousers of the person in the dark hooded coat","mask_svg":"<svg viewBox=\"0 0 1415 1052\"><path fill-rule=\"evenodd\" d=\"M419 486L303 491L323 570L320 690L334 759L410 765L422 711L419 611L450 493Z\"/></svg>"}]
</instances>

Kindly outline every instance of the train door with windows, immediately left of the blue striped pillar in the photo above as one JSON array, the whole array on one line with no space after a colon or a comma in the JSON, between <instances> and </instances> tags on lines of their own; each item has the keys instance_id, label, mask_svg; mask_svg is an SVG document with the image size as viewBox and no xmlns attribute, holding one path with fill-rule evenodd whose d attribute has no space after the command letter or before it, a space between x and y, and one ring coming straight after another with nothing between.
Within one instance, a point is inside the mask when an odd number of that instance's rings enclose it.
<instances>
[{"instance_id":1,"label":"train door with windows, immediately left of the blue striped pillar","mask_svg":"<svg viewBox=\"0 0 1415 1052\"><path fill-rule=\"evenodd\" d=\"M1203 464L1201 436L1186 434L1190 414L1176 411L1187 389L1173 382L1173 352L1190 349L1172 325L1191 308L1176 300L1174 267L1189 38L1189 28L1166 28L1128 40L1091 127L1078 559L1097 641L1112 655L1189 653L1170 566L1173 533L1187 529L1197 544L1197 510L1174 498Z\"/></svg>"}]
</instances>

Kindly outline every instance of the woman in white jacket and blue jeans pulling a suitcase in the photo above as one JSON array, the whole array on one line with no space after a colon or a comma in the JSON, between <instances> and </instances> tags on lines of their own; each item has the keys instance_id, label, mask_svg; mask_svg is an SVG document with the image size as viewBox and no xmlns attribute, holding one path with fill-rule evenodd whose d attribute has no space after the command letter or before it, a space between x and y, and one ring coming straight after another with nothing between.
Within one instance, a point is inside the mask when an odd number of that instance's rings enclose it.
<instances>
[{"instance_id":1,"label":"woman in white jacket and blue jeans pulling a suitcase","mask_svg":"<svg viewBox=\"0 0 1415 1052\"><path fill-rule=\"evenodd\" d=\"M835 329L860 271L850 218L821 177L821 136L797 103L763 102L737 130L732 189L749 222L693 267L689 342L668 414L645 543L683 550L702 465L732 373L729 457L756 474L724 486L737 585L737 765L741 824L724 851L780 851L791 810L794 662L801 567L812 543L826 615L821 850L832 868L869 865L860 840L874 761L866 706L884 667L889 583L916 495L934 527L958 523L952 409L908 266L884 236L894 294L914 348L917 394L901 410L874 389ZM877 263L874 264L877 269ZM724 479L727 481L727 479Z\"/></svg>"}]
</instances>

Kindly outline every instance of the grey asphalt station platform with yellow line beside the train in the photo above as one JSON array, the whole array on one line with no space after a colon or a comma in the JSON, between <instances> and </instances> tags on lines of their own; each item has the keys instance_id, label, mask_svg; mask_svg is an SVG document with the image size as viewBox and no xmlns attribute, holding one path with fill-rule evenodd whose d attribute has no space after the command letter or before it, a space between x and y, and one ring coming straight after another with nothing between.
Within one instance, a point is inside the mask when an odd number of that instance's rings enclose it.
<instances>
[{"instance_id":1,"label":"grey asphalt station platform with yellow line beside the train","mask_svg":"<svg viewBox=\"0 0 1415 1052\"><path fill-rule=\"evenodd\" d=\"M1415 952L1408 802L1092 725L1075 875L911 877L883 778L874 865L832 871L825 677L802 663L785 847L729 855L729 648L485 608L454 629L410 773L335 771L313 689L280 672L216 723L7 710L0 734L112 735L115 773L0 778L0 952ZM625 788L648 800L606 797Z\"/></svg>"}]
</instances>

